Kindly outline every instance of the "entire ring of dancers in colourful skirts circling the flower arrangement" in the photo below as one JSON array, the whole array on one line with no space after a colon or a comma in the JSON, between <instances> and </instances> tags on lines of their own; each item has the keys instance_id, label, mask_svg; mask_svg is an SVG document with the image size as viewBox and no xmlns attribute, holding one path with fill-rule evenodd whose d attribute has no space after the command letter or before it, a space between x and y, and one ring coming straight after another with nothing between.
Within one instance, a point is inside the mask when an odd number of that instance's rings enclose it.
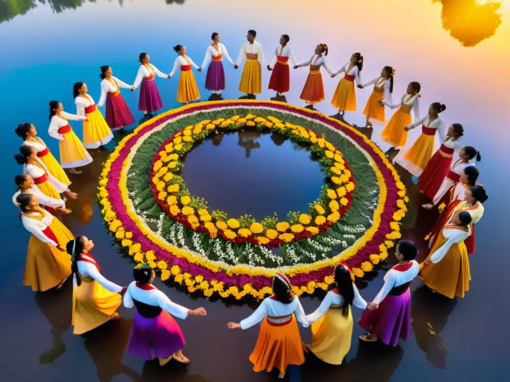
<instances>
[{"instance_id":1,"label":"entire ring of dancers in colourful skirts circling the flower arrangement","mask_svg":"<svg viewBox=\"0 0 510 382\"><path fill-rule=\"evenodd\" d=\"M240 90L251 98L261 90L262 46L255 41L256 33L249 31L248 41L243 45L236 64L219 42L219 35L213 34L213 44L207 49L201 70L209 60L206 88L215 94L224 89L222 57L236 68L246 57ZM295 62L289 37L283 35L274 50L274 58L268 64L272 70L270 89L277 94L289 90L289 58ZM199 97L191 67L196 67L186 56L186 47L177 45L179 53L172 72L160 72L149 63L146 53L140 54L140 68L134 85L123 83L112 75L109 66L101 67L101 96L96 104L88 94L87 85L73 86L76 114L64 112L61 102L49 103L49 128L51 137L59 140L60 162L38 137L33 124L20 123L16 134L23 140L15 159L23 165L23 171L15 177L18 187L13 196L19 208L21 222L32 236L29 241L23 285L34 291L61 288L72 276L73 304L72 325L74 334L84 334L97 326L120 316L117 309L123 298L126 308L136 308L137 313L129 340L129 351L150 360L158 358L161 365L170 360L189 363L183 354L185 339L172 316L185 319L190 315L205 316L203 308L187 309L170 301L152 285L155 272L146 264L138 265L134 271L134 282L121 287L101 275L100 267L90 253L94 248L92 240L85 236L75 237L59 220L62 213L72 212L66 208L65 198L76 199L78 195L69 188L64 169L71 174L81 173L79 167L92 161L87 149L97 149L112 139L112 130L121 129L134 123L129 108L120 95L120 88L135 90L141 84L139 109L151 114L162 107L155 75L171 78L177 69L181 70L177 99L190 102ZM320 67L334 76L344 72L337 87L333 103L340 113L355 110L354 80L359 88L374 85L365 115L367 123L385 121L385 106L398 108L382 132L382 137L394 147L403 146L406 133L421 125L422 134L411 149L397 156L397 161L413 175L418 176L418 188L429 199L423 208L445 205L435 227L426 238L429 253L418 264L416 245L400 240L395 256L398 264L386 274L385 284L372 302L367 303L352 283L350 269L344 263L334 268L335 288L330 290L318 309L305 315L296 295L292 293L290 280L277 273L273 279L271 297L264 299L259 308L240 323L229 322L230 329L248 329L262 322L259 339L250 355L255 371L276 368L283 377L288 365L304 362L304 352L313 352L324 362L339 365L349 351L352 337L351 305L364 309L359 321L367 334L360 337L367 342L381 341L396 346L399 339L409 338L411 328L410 284L419 277L432 291L449 298L464 297L469 290L471 279L468 254L473 253L474 225L483 214L482 203L488 199L483 186L476 183L479 172L475 161L480 153L472 146L464 146L462 125L454 123L446 129L439 114L445 110L440 102L432 103L427 116L419 115L420 84L412 82L401 102L393 103L393 76L395 71L386 66L379 77L361 84L360 72L363 57L352 54L349 63L337 73L331 73L324 57L328 47L319 44L314 56L294 67L310 66L310 74L301 98L313 105L324 98ZM196 98L195 98L196 97ZM106 102L106 119L98 110ZM414 110L415 122L410 115ZM83 143L73 132L69 120L83 121ZM446 130L446 131L445 131ZM442 144L435 150L435 135L439 133ZM442 135L441 135L442 134ZM458 159L457 159L458 157ZM455 161L453 160L455 158ZM392 223L397 224L397 223ZM392 227L398 229L398 227ZM312 341L303 344L297 322L311 325Z\"/></svg>"}]
</instances>

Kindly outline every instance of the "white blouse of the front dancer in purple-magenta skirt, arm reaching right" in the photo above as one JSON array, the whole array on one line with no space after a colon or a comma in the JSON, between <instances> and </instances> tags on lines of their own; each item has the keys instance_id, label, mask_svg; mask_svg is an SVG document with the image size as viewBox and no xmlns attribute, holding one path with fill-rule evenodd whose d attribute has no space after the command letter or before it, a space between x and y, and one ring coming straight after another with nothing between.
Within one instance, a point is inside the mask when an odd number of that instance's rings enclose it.
<instances>
[{"instance_id":1,"label":"white blouse of the front dancer in purple-magenta skirt, arm reaching right","mask_svg":"<svg viewBox=\"0 0 510 382\"><path fill-rule=\"evenodd\" d=\"M124 294L124 306L126 308L133 308L135 303L133 299L139 301L141 303L152 305L155 307L160 307L164 311L170 313L172 316L185 319L188 317L189 309L173 303L170 298L166 296L161 290L156 287L152 287L154 289L145 290L138 286L136 286L136 281L133 281L126 290Z\"/></svg>"}]
</instances>

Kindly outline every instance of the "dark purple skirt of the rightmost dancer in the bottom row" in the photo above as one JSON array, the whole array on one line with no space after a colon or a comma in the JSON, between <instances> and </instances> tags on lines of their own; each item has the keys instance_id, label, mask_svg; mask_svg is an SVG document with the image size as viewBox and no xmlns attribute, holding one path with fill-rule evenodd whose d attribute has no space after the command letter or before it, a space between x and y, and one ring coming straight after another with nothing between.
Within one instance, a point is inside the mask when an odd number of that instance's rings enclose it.
<instances>
[{"instance_id":1,"label":"dark purple skirt of the rightmost dancer in the bottom row","mask_svg":"<svg viewBox=\"0 0 510 382\"><path fill-rule=\"evenodd\" d=\"M387 295L375 310L365 309L360 326L379 340L397 346L398 339L407 341L411 334L411 292L399 296Z\"/></svg>"}]
</instances>

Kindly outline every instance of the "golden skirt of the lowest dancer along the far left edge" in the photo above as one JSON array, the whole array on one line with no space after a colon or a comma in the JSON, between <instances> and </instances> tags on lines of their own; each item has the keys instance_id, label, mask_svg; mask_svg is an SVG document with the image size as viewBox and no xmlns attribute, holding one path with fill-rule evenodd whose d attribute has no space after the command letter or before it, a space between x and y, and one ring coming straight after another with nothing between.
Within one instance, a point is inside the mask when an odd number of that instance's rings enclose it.
<instances>
[{"instance_id":1,"label":"golden skirt of the lowest dancer along the far left edge","mask_svg":"<svg viewBox=\"0 0 510 382\"><path fill-rule=\"evenodd\" d=\"M69 240L74 239L72 233L57 218L53 219L49 228L62 248L65 248ZM33 291L43 292L56 287L70 275L71 256L32 235L27 250L23 285L31 286Z\"/></svg>"}]
</instances>

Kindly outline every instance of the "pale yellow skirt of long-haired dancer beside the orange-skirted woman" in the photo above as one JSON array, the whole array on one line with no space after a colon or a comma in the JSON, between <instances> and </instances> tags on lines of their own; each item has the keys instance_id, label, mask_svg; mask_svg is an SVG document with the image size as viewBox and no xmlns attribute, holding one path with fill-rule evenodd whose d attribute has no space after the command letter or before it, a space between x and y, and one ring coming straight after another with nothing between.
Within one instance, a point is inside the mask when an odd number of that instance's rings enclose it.
<instances>
[{"instance_id":1,"label":"pale yellow skirt of long-haired dancer beside the orange-skirted woman","mask_svg":"<svg viewBox=\"0 0 510 382\"><path fill-rule=\"evenodd\" d=\"M343 307L329 308L312 324L310 350L317 358L331 365L341 365L352 342L352 313L344 316Z\"/></svg>"}]
</instances>

